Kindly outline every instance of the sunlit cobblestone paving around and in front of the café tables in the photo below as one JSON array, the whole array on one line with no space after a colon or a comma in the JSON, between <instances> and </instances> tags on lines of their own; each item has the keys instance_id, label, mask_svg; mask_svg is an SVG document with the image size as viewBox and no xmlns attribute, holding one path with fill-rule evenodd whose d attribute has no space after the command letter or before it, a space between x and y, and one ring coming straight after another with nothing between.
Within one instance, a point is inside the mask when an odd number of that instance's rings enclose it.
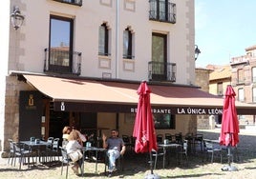
<instances>
[{"instance_id":1,"label":"sunlit cobblestone paving around and in front of the caf\u00e9 tables","mask_svg":"<svg viewBox=\"0 0 256 179\"><path fill-rule=\"evenodd\" d=\"M203 137L207 139L218 139L220 129L199 130L203 133ZM241 130L239 143L239 161L234 161L231 165L235 166L238 171L223 171L222 168L227 165L227 159L224 157L223 164L219 161L210 163L204 160L201 153L189 154L188 165L179 165L174 159L170 162L166 169L155 169L153 172L158 174L160 178L207 178L207 179L251 179L256 178L256 130ZM175 157L174 157L175 158ZM147 164L145 154L127 154L124 159L124 170L118 171L112 178L135 178L142 179L151 173L149 164ZM17 160L18 162L18 160ZM161 163L160 163L161 164ZM160 167L160 165L159 165ZM66 169L66 168L64 168ZM0 159L0 178L14 179L58 179L65 178L66 170L61 173L61 163L55 162L52 165L35 165L28 168L28 165L18 169L18 165L13 167L7 164L6 158ZM104 164L99 163L97 172L95 163L85 162L85 178L106 178L104 173ZM73 170L69 168L69 178L82 178L75 175Z\"/></svg>"}]
</instances>

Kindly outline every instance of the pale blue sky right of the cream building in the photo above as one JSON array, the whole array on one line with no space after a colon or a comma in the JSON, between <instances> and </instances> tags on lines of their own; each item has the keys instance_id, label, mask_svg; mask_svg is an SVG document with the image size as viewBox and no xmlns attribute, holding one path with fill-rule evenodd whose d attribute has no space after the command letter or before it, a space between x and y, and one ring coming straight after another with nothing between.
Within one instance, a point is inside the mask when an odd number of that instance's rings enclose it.
<instances>
[{"instance_id":1,"label":"pale blue sky right of the cream building","mask_svg":"<svg viewBox=\"0 0 256 179\"><path fill-rule=\"evenodd\" d=\"M196 66L229 64L256 45L255 0L195 0Z\"/></svg>"}]
</instances>

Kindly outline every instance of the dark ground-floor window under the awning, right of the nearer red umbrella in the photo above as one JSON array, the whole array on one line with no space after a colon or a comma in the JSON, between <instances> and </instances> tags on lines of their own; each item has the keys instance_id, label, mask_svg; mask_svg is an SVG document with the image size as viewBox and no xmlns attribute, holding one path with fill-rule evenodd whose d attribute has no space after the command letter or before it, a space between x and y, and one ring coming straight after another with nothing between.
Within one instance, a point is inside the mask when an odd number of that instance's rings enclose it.
<instances>
[{"instance_id":1,"label":"dark ground-floor window under the awning, right of the nearer red umbrella","mask_svg":"<svg viewBox=\"0 0 256 179\"><path fill-rule=\"evenodd\" d=\"M156 129L175 129L175 115L153 114Z\"/></svg>"}]
</instances>

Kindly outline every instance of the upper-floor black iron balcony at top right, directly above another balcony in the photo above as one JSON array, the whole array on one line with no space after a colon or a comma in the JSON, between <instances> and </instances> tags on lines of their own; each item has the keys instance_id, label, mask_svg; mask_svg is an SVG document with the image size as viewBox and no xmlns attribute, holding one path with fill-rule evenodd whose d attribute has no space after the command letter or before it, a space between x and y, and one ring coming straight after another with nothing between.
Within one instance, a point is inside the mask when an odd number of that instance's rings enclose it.
<instances>
[{"instance_id":1,"label":"upper-floor black iron balcony at top right, directly above another balcony","mask_svg":"<svg viewBox=\"0 0 256 179\"><path fill-rule=\"evenodd\" d=\"M176 23L176 4L160 1L149 1L149 20L175 24Z\"/></svg>"}]
</instances>

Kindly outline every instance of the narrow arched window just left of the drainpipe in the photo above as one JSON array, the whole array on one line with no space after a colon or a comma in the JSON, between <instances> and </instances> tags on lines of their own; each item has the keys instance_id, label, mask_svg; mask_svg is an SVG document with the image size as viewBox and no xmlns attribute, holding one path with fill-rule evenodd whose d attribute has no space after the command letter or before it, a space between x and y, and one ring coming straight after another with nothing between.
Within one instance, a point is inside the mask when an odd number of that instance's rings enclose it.
<instances>
[{"instance_id":1,"label":"narrow arched window just left of the drainpipe","mask_svg":"<svg viewBox=\"0 0 256 179\"><path fill-rule=\"evenodd\" d=\"M98 54L105 56L109 54L109 30L105 23L98 30Z\"/></svg>"}]
</instances>

